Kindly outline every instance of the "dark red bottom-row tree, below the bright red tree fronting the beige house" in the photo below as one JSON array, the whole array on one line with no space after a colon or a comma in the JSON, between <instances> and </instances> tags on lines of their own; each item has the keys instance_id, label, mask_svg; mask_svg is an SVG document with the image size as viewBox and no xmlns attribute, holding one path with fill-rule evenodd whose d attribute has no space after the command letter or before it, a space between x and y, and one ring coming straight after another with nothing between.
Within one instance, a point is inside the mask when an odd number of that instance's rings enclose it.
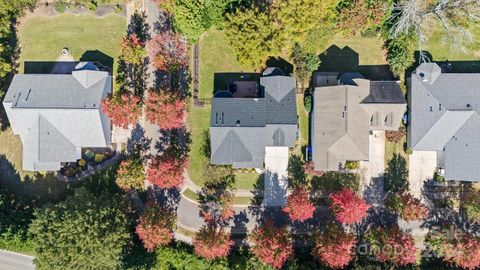
<instances>
[{"instance_id":1,"label":"dark red bottom-row tree, below the bright red tree fronting the beige house","mask_svg":"<svg viewBox=\"0 0 480 270\"><path fill-rule=\"evenodd\" d=\"M353 248L357 240L339 226L329 225L315 241L312 255L333 269L342 269L353 258Z\"/></svg>"}]
</instances>

